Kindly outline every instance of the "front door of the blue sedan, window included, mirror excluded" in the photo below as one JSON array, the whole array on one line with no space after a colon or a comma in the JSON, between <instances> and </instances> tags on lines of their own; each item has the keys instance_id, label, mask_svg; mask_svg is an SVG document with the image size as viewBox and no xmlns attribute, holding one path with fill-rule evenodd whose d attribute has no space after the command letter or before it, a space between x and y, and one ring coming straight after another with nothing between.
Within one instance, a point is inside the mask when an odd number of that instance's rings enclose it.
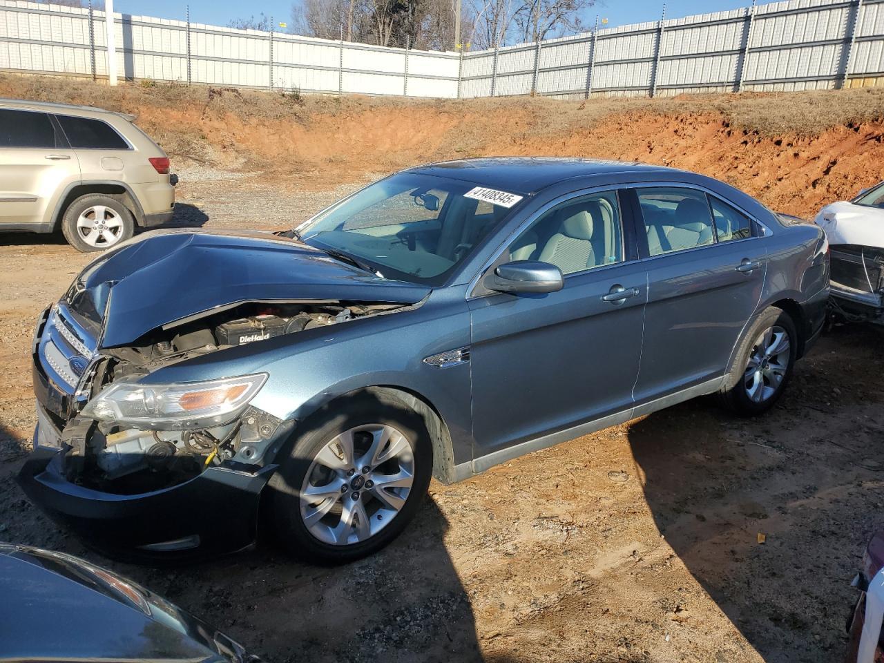
<instances>
[{"instance_id":1,"label":"front door of the blue sedan, window included, mirror excluded","mask_svg":"<svg viewBox=\"0 0 884 663\"><path fill-rule=\"evenodd\" d=\"M469 301L475 458L629 411L642 351L644 266L627 259L615 191L553 204L507 250L565 285Z\"/></svg>"}]
</instances>

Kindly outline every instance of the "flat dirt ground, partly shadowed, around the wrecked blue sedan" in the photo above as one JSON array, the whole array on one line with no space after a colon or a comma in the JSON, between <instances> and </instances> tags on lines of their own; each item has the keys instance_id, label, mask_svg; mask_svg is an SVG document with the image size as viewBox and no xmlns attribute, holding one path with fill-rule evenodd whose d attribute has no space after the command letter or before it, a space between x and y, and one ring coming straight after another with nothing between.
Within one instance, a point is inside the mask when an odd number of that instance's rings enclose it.
<instances>
[{"instance_id":1,"label":"flat dirt ground, partly shadowed, around the wrecked blue sedan","mask_svg":"<svg viewBox=\"0 0 884 663\"><path fill-rule=\"evenodd\" d=\"M290 227L360 183L316 192L211 168L180 176L176 220L206 228ZM13 481L34 429L34 318L87 261L58 239L0 237L0 539L130 575L277 663L842 656L850 578L884 527L884 331L827 332L764 417L695 400L434 483L404 536L347 567L261 547L141 568L89 552Z\"/></svg>"}]
</instances>

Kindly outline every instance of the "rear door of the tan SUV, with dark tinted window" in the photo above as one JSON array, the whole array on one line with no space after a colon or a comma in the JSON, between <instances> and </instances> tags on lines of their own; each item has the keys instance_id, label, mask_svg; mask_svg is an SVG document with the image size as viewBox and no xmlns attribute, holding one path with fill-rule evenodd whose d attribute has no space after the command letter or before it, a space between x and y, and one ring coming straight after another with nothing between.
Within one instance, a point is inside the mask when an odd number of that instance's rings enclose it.
<instances>
[{"instance_id":1,"label":"rear door of the tan SUV, with dark tinted window","mask_svg":"<svg viewBox=\"0 0 884 663\"><path fill-rule=\"evenodd\" d=\"M0 108L0 225L51 221L80 164L48 113Z\"/></svg>"}]
</instances>

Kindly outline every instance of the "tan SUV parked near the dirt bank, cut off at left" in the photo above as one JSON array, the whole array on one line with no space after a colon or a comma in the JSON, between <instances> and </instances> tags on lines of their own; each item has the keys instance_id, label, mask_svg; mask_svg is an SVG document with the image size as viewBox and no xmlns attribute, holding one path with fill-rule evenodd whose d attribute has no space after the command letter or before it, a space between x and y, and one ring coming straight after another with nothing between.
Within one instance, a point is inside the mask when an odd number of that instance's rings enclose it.
<instances>
[{"instance_id":1,"label":"tan SUV parked near the dirt bank, cut off at left","mask_svg":"<svg viewBox=\"0 0 884 663\"><path fill-rule=\"evenodd\" d=\"M0 231L56 232L99 251L171 220L169 157L134 117L0 99Z\"/></svg>"}]
</instances>

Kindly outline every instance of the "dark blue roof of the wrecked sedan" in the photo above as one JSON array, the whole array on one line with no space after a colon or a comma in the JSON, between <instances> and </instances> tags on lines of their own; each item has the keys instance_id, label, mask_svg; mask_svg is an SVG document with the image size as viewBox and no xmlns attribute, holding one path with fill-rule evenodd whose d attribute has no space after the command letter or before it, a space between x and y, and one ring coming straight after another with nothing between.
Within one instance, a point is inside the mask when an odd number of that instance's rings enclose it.
<instances>
[{"instance_id":1,"label":"dark blue roof of the wrecked sedan","mask_svg":"<svg viewBox=\"0 0 884 663\"><path fill-rule=\"evenodd\" d=\"M409 168L405 172L464 179L481 183L484 187L514 191L520 194L534 194L561 182L563 179L585 178L627 171L667 172L669 174L683 172L666 166L639 164L630 161L545 156L492 156L460 159L417 166Z\"/></svg>"}]
</instances>

